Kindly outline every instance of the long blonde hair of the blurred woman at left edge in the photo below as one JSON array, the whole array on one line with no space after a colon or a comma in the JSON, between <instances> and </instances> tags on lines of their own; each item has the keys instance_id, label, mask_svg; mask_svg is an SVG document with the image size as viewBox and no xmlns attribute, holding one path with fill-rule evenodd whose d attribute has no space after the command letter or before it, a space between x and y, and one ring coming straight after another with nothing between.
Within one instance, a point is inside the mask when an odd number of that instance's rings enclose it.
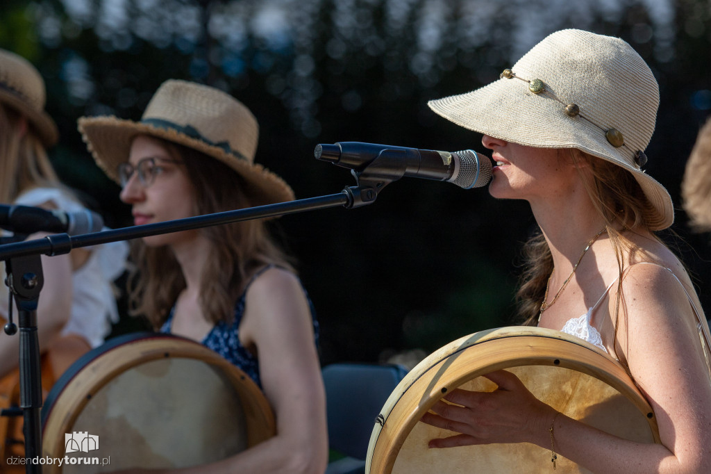
<instances>
[{"instance_id":1,"label":"long blonde hair of the blurred woman at left edge","mask_svg":"<svg viewBox=\"0 0 711 474\"><path fill-rule=\"evenodd\" d=\"M35 186L63 186L31 125L22 132L21 115L0 104L0 202L11 203Z\"/></svg>"}]
</instances>

